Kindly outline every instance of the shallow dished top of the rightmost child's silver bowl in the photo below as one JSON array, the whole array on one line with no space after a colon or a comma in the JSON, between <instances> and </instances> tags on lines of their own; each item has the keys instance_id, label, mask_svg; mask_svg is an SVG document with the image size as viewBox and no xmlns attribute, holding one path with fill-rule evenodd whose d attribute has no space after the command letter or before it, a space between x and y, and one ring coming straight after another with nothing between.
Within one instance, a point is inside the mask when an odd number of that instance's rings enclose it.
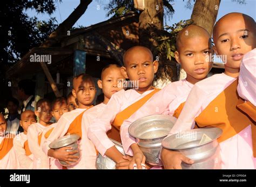
<instances>
[{"instance_id":1,"label":"shallow dished top of the rightmost child's silver bowl","mask_svg":"<svg viewBox=\"0 0 256 187\"><path fill-rule=\"evenodd\" d=\"M162 141L162 146L166 149L172 150L190 149L216 140L220 137L222 132L223 131L217 127L185 130L165 137ZM206 139L206 141L200 143L204 135L207 136L208 140Z\"/></svg>"}]
</instances>

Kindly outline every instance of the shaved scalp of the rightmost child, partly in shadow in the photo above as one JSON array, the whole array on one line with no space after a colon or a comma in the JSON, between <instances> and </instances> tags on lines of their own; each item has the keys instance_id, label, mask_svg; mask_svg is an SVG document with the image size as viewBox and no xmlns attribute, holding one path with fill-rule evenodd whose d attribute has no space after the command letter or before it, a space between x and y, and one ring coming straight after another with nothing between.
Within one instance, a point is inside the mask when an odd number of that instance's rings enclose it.
<instances>
[{"instance_id":1,"label":"shaved scalp of the rightmost child, partly in shadow","mask_svg":"<svg viewBox=\"0 0 256 187\"><path fill-rule=\"evenodd\" d=\"M253 32L254 36L256 36L256 23L255 20L245 15L244 13L239 12L231 12L227 15L221 17L218 22L213 27L213 40L215 41L217 37L219 36L219 27L225 25L225 23L233 23L237 20L240 20L241 22L244 22L245 27L247 27L251 32Z\"/></svg>"}]
</instances>

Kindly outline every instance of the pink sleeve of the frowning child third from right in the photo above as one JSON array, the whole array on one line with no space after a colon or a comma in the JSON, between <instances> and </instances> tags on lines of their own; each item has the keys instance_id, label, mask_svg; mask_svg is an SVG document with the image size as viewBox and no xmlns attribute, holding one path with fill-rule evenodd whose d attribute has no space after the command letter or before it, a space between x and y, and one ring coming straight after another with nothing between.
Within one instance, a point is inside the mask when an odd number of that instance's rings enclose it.
<instances>
[{"instance_id":1,"label":"pink sleeve of the frowning child third from right","mask_svg":"<svg viewBox=\"0 0 256 187\"><path fill-rule=\"evenodd\" d=\"M107 137L106 133L111 129L111 123L120 112L123 91L113 94L103 112L91 123L87 136L95 144L99 153L105 156L107 149L114 146L114 143Z\"/></svg>"}]
</instances>

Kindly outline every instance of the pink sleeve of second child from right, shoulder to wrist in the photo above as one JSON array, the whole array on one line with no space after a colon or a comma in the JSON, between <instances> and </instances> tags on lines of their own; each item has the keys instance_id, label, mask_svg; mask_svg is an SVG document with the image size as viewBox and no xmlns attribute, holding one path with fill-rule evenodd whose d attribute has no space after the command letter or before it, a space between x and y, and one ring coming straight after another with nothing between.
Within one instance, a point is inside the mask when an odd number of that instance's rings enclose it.
<instances>
[{"instance_id":1,"label":"pink sleeve of second child from right, shoulder to wrist","mask_svg":"<svg viewBox=\"0 0 256 187\"><path fill-rule=\"evenodd\" d=\"M135 139L129 135L130 124L141 117L163 114L169 107L170 103L176 98L176 95L169 94L172 86L166 86L161 91L157 92L152 98L147 101L136 113L134 113L129 119L125 120L120 129L120 135L125 154L133 155L130 148L131 144L136 143Z\"/></svg>"}]
</instances>

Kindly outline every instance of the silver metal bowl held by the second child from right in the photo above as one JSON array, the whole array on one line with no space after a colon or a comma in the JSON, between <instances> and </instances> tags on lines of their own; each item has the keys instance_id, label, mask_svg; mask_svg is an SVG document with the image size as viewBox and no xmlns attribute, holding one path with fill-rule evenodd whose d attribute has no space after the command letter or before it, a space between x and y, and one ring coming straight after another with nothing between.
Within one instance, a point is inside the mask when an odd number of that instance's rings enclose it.
<instances>
[{"instance_id":1,"label":"silver metal bowl held by the second child from right","mask_svg":"<svg viewBox=\"0 0 256 187\"><path fill-rule=\"evenodd\" d=\"M169 115L151 115L142 117L130 125L129 134L136 138L146 162L150 165L163 165L159 160L161 141L169 134L176 120Z\"/></svg>"}]
</instances>

